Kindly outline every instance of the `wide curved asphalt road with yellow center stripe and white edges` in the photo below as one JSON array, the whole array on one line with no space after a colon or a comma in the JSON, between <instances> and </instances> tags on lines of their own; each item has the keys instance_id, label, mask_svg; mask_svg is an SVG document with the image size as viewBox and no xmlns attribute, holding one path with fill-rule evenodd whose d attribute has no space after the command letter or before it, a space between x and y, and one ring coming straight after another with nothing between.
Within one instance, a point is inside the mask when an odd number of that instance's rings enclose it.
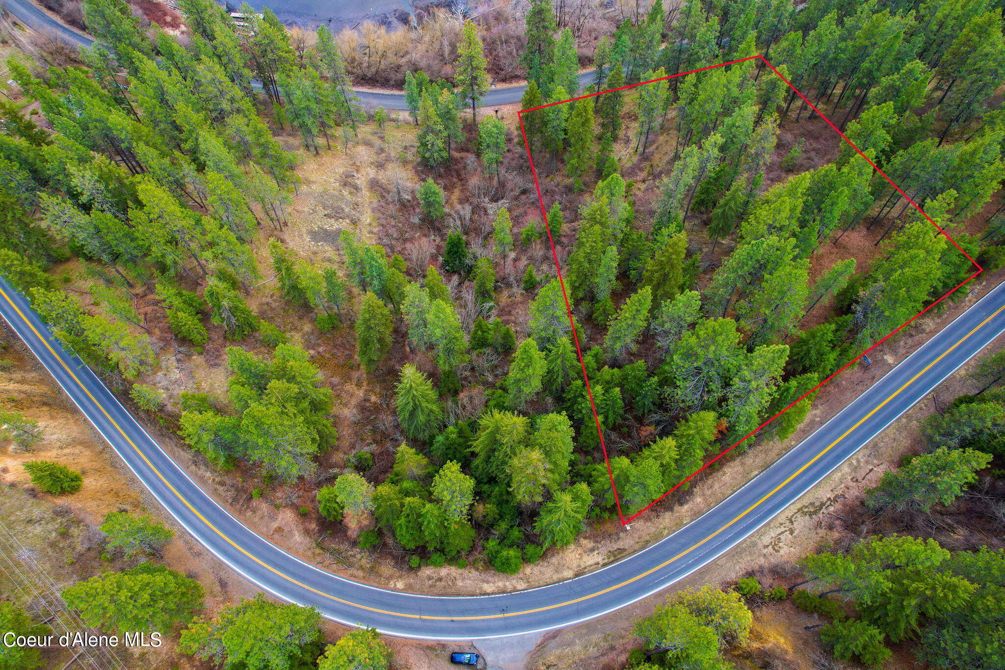
<instances>
[{"instance_id":1,"label":"wide curved asphalt road with yellow center stripe and white edges","mask_svg":"<svg viewBox=\"0 0 1005 670\"><path fill-rule=\"evenodd\" d=\"M63 350L0 280L0 314L165 509L227 567L329 619L404 637L468 640L560 628L650 596L771 520L1005 330L998 285L830 421L729 498L671 535L596 572L493 596L421 596L310 566L231 516L164 452L105 384ZM625 532L631 532L626 529Z\"/></svg>"}]
</instances>

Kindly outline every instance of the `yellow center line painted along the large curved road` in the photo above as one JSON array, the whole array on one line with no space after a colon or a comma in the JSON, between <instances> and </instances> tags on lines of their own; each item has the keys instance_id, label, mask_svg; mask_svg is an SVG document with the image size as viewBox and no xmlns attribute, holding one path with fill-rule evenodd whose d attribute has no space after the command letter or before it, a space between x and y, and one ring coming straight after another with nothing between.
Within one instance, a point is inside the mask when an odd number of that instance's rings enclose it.
<instances>
[{"instance_id":1,"label":"yellow center line painted along the large curved road","mask_svg":"<svg viewBox=\"0 0 1005 670\"><path fill-rule=\"evenodd\" d=\"M178 497L178 499L181 500L182 503L184 503L185 506L188 507L189 510L192 511L193 514L195 514L203 523L205 523L209 528L211 528L216 534L218 534L222 539L224 539L227 543L229 543L235 549L237 549L238 551L240 551L241 553L243 553L244 555L246 555L251 561L253 561L256 564L258 564L262 568L264 568L264 569L268 570L269 572L271 572L272 574L276 575L277 577L280 577L280 578L282 578L282 579L284 579L284 580L286 580L286 581L288 581L288 582L290 582L292 584L295 584L296 586L300 587L301 589L306 589L306 590L308 590L308 591L310 591L312 593L315 593L315 594L318 594L319 596L323 596L325 598L331 599L331 600L333 600L333 601L335 601L337 603L342 603L343 605L348 605L348 606L351 606L351 607L357 607L357 608L360 608L360 609L363 609L363 610L367 610L369 612L375 612L375 613L378 613L378 614L387 614L387 615L392 615L392 616L395 616L395 617L407 617L407 618L410 618L410 619L430 619L430 620L439 620L439 621L474 621L474 620L480 620L480 619L497 619L497 618L501 618L501 617L517 617L517 616L521 616L521 615L534 614L534 613L537 613L537 612L545 612L547 610L554 610L554 609L557 609L557 608L567 607L569 605L575 605L577 603L581 603L583 601L590 600L591 598L596 598L597 596L602 596L604 594L610 593L612 591L615 591L615 590L620 589L620 588L622 588L624 586L632 584L633 582L636 582L637 580L640 580L640 579L642 579L644 577L647 577L647 576L655 573L656 571L659 571L659 570L665 568L666 566L670 565L674 561L677 561L681 556L689 553L690 551L694 550L695 548L697 548L701 544L705 544L710 539L712 539L713 537L715 537L719 533L723 532L724 530L726 530L727 528L729 528L730 526L732 526L734 523L736 523L737 521L739 521L740 519L742 519L743 517L745 517L747 514L749 514L751 511L753 511L754 509L756 509L758 506L760 506L765 500L767 500L768 498L770 498L771 496L773 496L775 493L777 493L779 490L781 490L783 487L785 487L786 485L788 485L793 479L795 479L797 476L799 476L800 474L802 474L806 470L806 468L808 468L811 465L813 465L813 463L815 463L819 458L821 458L824 454L826 454L828 451L830 451L831 448L834 447L834 445L836 445L838 442L840 442L845 437L847 437L849 433L851 433L853 430L855 430L856 428L858 428L863 422L865 422L867 419L869 419L873 414L875 414L880 409L882 409L883 406L886 405L886 403L888 403L889 401L893 400L893 398L895 398L897 395L899 395L901 391L903 391L909 386L911 386L915 381L917 381L919 377L921 377L922 375L924 375L933 366L935 366L937 363L939 363L944 358L946 358L953 350L955 350L957 347L959 347L964 342L966 342L972 334L974 334L975 332L977 332L978 329L980 329L981 327L983 327L988 321L990 321L992 318L994 318L995 316L997 316L999 312L1001 312L1003 309L1005 309L1005 305L1002 305L1001 307L998 307L998 309L996 309L994 311L994 313L992 313L990 316L988 316L983 321L981 321L976 326L974 326L974 328L970 332L968 332L967 334L965 334L962 339L960 339L959 342L957 342L955 345L953 345L948 350L946 350L945 352L943 352L943 354L938 359L936 359L935 361L933 361L932 363L930 363L928 366L926 366L921 372L919 372L917 375L915 375L910 380L908 380L908 382L906 382L903 384L903 386L901 386L899 389L897 389L892 394L890 394L890 396L888 398L886 398L886 400L884 400L881 403L879 403L879 405L877 405L874 409L872 409L871 412L869 412L864 417L862 417L861 419L859 419L858 422L855 423L854 426L852 426L848 430L844 431L844 433L842 433L840 435L840 437L838 437L836 440L834 440L829 445L827 445L827 447L825 449L823 449L819 454L817 454L816 456L814 456L805 465L803 465L801 468L799 468L794 473L792 473L788 478L785 479L785 481L783 481L778 486L776 486L771 491L769 491L764 496L762 496L761 499L759 499L757 502L755 502L750 507L748 507L747 509L745 509L743 512L741 512L740 514L738 514L733 520L731 520L728 523L724 524L722 527L720 527L715 532L709 534L703 539L695 542L694 544L691 544L690 546L688 546L687 548L683 549L682 551L680 551L676 555L672 556L671 559L668 559L668 560L664 561L663 563L659 564L655 568L647 570L646 572L641 573L639 575L636 575L635 577L633 577L631 579L625 580L624 582L621 582L620 584L616 584L616 585L607 587L606 589L603 589L603 590L598 591L596 593L592 593L592 594L589 594L587 596L582 596L582 597L576 598L574 600L565 601L563 603L556 603L554 605L547 605L547 606L544 606L544 607L535 608L533 610L523 610L521 612L506 612L506 613L500 613L500 614L488 614L488 615L479 615L479 616L471 616L471 617L436 617L436 616L429 616L429 615L405 614L405 613L402 613L402 612L392 612L392 611L388 611L388 610L381 610L379 608L368 607L366 605L360 605L358 603L353 603L351 601L343 600L341 598L338 598L337 596L333 596L333 595L327 594L327 593L325 593L323 591L319 591L317 589L309 587L308 585L306 585L306 584L304 584L301 582L298 582L297 580L294 580L293 578L289 577L288 575L285 575L284 573L279 572L275 568L272 568L271 566L263 563L261 560L259 560L256 556L252 555L247 550L245 550L243 547L241 547L239 544L237 544L234 540L230 539L230 537L228 537L226 534L224 534L222 531L220 531L215 525L213 525L212 523L210 523L201 513L199 513L199 511L195 507L193 507L189 503L189 501L186 500L181 495L181 493L179 493L178 490L175 489L175 487L167 479L165 479L164 475L161 474L160 470L158 470L156 467L154 467L154 464L150 462L150 460L147 458L146 454L144 454L143 451L141 451L140 448L137 447L136 444L134 444L133 440L130 439L130 437L126 434L126 432L122 429L122 427L105 410L105 407L102 406L102 404L97 402L97 399L95 399L90 394L90 391L88 391L87 388L85 386L83 386L82 383L80 383L80 380L77 379L77 377L73 373L73 371L69 369L69 367L63 362L62 358L60 358L55 353L55 351L52 349L52 347L49 346L49 344L46 341L46 339L43 338L42 334L40 332L38 332L37 329L35 329L35 326L31 323L31 321L29 321L27 319L27 317L25 317L24 313L21 312L21 310L18 308L18 306L16 304L14 304L14 301L11 300L10 296L6 293L6 291L3 290L3 288L0 288L0 294L3 294L4 298L6 298L7 302L9 302L10 305L14 308L14 310L17 311L18 315L24 320L25 324L27 324L27 326L31 328L31 330L38 337L38 339L42 342L42 344L45 345L46 349L49 350L49 352L52 354L52 356L54 356L55 359L57 361L59 361L59 364L63 367L63 369L69 374L70 377L73 378L73 381L77 383L77 385L80 387L80 389L85 394L87 394L87 397L90 398L90 400L94 403L94 405L97 406L97 408L102 411L102 414L105 415L105 417L112 423L113 426L116 427L116 429L120 432L120 434L122 434L122 436L126 439L126 441L129 442L130 446L132 446L133 449L135 449L136 452L140 455L140 457L143 458L144 462L147 463L147 466L150 467L151 470L153 470L153 472L160 478L160 480L162 482L164 482L164 484L169 489L171 489L171 492L174 493ZM342 579L344 579L344 578L342 578ZM398 593L401 593L401 592L398 592Z\"/></svg>"}]
</instances>

